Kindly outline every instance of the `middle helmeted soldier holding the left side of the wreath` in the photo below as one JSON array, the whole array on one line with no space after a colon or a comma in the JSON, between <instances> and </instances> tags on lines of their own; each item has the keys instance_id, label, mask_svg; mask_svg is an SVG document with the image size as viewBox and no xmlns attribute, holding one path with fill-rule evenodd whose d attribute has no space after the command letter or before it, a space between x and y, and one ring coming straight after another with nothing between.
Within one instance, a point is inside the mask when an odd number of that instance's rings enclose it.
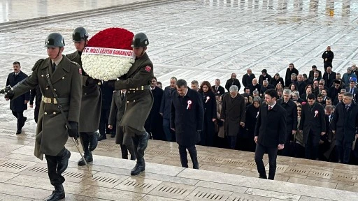
<instances>
[{"instance_id":1,"label":"middle helmeted soldier holding the left side of the wreath","mask_svg":"<svg viewBox=\"0 0 358 201\"><path fill-rule=\"evenodd\" d=\"M88 162L92 162L92 152L97 147L99 127L99 118L101 117L101 91L99 91L99 80L94 80L87 75L82 68L81 54L88 43L88 34L85 28L77 27L73 30L72 40L75 43L76 52L66 54L71 61L75 61L81 66L82 76L82 100L80 110L80 121L78 122L78 132L80 140L85 152L84 158ZM83 158L77 163L80 166L85 165Z\"/></svg>"}]
</instances>

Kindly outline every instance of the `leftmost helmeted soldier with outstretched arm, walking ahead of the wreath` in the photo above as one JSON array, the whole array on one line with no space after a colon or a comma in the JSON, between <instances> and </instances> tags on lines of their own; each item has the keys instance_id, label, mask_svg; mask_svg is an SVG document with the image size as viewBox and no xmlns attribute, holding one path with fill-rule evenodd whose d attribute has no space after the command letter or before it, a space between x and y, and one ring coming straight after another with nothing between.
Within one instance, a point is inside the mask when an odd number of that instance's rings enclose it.
<instances>
[{"instance_id":1,"label":"leftmost helmeted soldier with outstretched arm, walking ahead of the wreath","mask_svg":"<svg viewBox=\"0 0 358 201\"><path fill-rule=\"evenodd\" d=\"M42 160L45 154L48 177L55 186L55 191L48 198L52 201L65 198L62 186L64 177L61 174L69 164L71 153L64 145L69 136L78 135L82 75L80 66L62 55L64 38L61 34L48 35L45 47L48 48L49 57L36 61L31 69L32 74L8 91L6 98L17 98L36 86L40 87L43 96L38 114L34 155Z\"/></svg>"}]
</instances>

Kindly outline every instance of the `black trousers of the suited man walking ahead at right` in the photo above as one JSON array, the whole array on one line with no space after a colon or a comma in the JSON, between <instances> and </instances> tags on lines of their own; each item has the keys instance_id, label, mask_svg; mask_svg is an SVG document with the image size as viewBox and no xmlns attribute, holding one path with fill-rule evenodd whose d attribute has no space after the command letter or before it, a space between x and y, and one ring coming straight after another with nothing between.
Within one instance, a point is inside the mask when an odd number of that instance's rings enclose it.
<instances>
[{"instance_id":1,"label":"black trousers of the suited man walking ahead at right","mask_svg":"<svg viewBox=\"0 0 358 201\"><path fill-rule=\"evenodd\" d=\"M267 179L264 161L262 161L265 152L267 152L268 165L270 165L268 179L275 179L277 151L277 147L265 147L262 144L256 144L255 163L261 178Z\"/></svg>"}]
</instances>

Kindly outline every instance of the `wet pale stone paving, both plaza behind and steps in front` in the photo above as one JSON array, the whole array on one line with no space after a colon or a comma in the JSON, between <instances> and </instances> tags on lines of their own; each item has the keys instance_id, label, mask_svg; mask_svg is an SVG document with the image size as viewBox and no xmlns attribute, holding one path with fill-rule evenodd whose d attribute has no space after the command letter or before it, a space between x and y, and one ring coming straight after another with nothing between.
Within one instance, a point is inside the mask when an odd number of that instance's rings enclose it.
<instances>
[{"instance_id":1,"label":"wet pale stone paving, both plaza behind and steps in front","mask_svg":"<svg viewBox=\"0 0 358 201\"><path fill-rule=\"evenodd\" d=\"M337 72L344 73L357 62L357 1L138 0L136 9L125 7L131 2L0 0L0 85L5 84L13 61L20 61L24 73L31 73L34 62L46 57L43 40L50 32L62 33L65 52L72 52L71 31L78 26L86 27L90 35L107 27L147 33L148 54L164 86L172 76L213 82L235 72L241 79L246 68L257 75L267 68L271 75L284 76L289 63L304 73L313 64L322 70L320 56L327 45L335 53ZM24 5L27 9L21 13ZM108 6L114 10L101 10ZM86 17L73 17L83 10ZM329 16L331 10L333 16ZM14 29L17 25L21 28ZM15 135L15 117L8 102L0 101L0 200L43 200L52 191L45 161L33 156L33 112L25 112L24 133ZM154 140L146 151L147 171L138 177L129 177L134 162L119 159L120 147L113 139L100 142L94 151L91 179L85 169L77 167L79 154L72 143L67 146L73 155L65 173L66 200L358 198L356 166L278 157L277 181L265 181L257 179L252 153L199 146L201 170L183 169L178 167L177 144Z\"/></svg>"}]
</instances>

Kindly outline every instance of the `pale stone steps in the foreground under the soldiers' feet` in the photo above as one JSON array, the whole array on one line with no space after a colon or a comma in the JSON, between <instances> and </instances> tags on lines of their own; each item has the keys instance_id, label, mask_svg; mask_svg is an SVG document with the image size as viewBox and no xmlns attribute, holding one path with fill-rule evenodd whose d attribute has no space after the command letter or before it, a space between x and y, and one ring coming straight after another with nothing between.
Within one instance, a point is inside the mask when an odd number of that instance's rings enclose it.
<instances>
[{"instance_id":1,"label":"pale stone steps in the foreground under the soldiers' feet","mask_svg":"<svg viewBox=\"0 0 358 201\"><path fill-rule=\"evenodd\" d=\"M34 129L21 135L0 123L0 199L43 200L52 191L47 165L33 156ZM357 167L278 157L275 181L258 179L252 153L198 146L200 170L179 166L177 144L150 140L145 172L130 177L135 162L118 158L120 147L108 135L90 163L78 167L71 140L64 172L65 200L356 200ZM264 159L267 161L267 158ZM190 164L189 164L190 165Z\"/></svg>"}]
</instances>

